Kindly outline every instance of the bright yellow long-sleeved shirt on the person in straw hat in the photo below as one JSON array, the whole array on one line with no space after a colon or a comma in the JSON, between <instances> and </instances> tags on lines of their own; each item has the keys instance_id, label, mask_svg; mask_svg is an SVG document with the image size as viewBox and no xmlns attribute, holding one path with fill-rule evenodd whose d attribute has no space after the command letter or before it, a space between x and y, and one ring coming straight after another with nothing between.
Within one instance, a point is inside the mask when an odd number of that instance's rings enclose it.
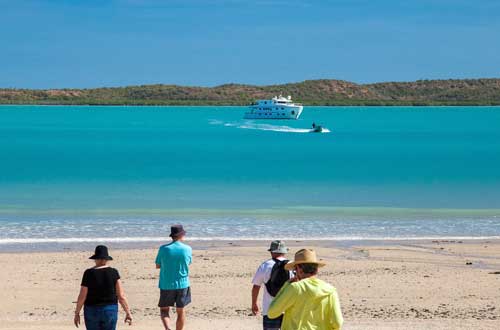
<instances>
[{"instance_id":1,"label":"bright yellow long-sleeved shirt on the person in straw hat","mask_svg":"<svg viewBox=\"0 0 500 330\"><path fill-rule=\"evenodd\" d=\"M337 290L314 277L281 288L267 316L277 318L281 314L281 330L339 330L344 323Z\"/></svg>"}]
</instances>

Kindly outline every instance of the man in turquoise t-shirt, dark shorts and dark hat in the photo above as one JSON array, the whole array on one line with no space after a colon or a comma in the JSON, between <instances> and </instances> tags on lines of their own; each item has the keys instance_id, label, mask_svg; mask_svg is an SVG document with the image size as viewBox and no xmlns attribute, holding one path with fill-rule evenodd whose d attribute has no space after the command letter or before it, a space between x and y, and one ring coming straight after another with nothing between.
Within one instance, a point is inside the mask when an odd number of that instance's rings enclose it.
<instances>
[{"instance_id":1,"label":"man in turquoise t-shirt, dark shorts and dark hat","mask_svg":"<svg viewBox=\"0 0 500 330\"><path fill-rule=\"evenodd\" d=\"M170 330L170 307L177 312L176 330L182 330L186 320L184 307L191 302L189 287L189 265L192 260L191 247L182 243L186 231L182 225L170 228L172 242L162 245L156 256L156 268L160 270L160 307L161 320L165 330Z\"/></svg>"}]
</instances>

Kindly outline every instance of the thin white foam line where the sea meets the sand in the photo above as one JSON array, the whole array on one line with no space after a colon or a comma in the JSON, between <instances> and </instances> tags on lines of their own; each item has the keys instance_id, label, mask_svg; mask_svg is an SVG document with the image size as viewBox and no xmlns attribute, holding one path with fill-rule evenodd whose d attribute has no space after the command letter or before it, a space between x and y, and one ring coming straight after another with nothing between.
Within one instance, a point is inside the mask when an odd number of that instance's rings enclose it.
<instances>
[{"instance_id":1,"label":"thin white foam line where the sea meets the sand","mask_svg":"<svg viewBox=\"0 0 500 330\"><path fill-rule=\"evenodd\" d=\"M289 241L426 241L426 240L488 240L500 239L500 236L416 236L416 237L280 237ZM44 243L141 243L163 242L168 237L67 237L67 238L5 238L0 245L7 244L44 244ZM275 237L188 237L190 241L270 241Z\"/></svg>"}]
</instances>

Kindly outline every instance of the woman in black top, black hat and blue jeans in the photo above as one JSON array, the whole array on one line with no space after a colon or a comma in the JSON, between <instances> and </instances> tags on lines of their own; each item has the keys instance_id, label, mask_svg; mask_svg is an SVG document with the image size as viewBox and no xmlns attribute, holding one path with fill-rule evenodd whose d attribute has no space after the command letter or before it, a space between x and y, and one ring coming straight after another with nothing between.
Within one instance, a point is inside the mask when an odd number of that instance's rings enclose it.
<instances>
[{"instance_id":1,"label":"woman in black top, black hat and blue jeans","mask_svg":"<svg viewBox=\"0 0 500 330\"><path fill-rule=\"evenodd\" d=\"M76 303L74 323L80 325L80 311L84 307L87 330L116 330L118 303L126 313L125 323L132 325L132 315L122 288L120 274L107 265L113 260L108 248L98 245L89 259L95 260L95 267L83 273L80 294Z\"/></svg>"}]
</instances>

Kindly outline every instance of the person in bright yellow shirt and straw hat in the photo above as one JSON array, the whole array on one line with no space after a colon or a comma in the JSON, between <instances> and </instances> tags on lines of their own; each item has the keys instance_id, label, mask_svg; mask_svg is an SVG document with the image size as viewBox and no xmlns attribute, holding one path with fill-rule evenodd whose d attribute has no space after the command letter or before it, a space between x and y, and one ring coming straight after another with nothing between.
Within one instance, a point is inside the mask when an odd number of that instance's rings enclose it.
<instances>
[{"instance_id":1,"label":"person in bright yellow shirt and straw hat","mask_svg":"<svg viewBox=\"0 0 500 330\"><path fill-rule=\"evenodd\" d=\"M287 282L269 306L268 317L283 315L281 330L340 330L344 319L337 290L318 279L318 268L325 263L316 252L302 249L293 262L285 265L296 277Z\"/></svg>"}]
</instances>

